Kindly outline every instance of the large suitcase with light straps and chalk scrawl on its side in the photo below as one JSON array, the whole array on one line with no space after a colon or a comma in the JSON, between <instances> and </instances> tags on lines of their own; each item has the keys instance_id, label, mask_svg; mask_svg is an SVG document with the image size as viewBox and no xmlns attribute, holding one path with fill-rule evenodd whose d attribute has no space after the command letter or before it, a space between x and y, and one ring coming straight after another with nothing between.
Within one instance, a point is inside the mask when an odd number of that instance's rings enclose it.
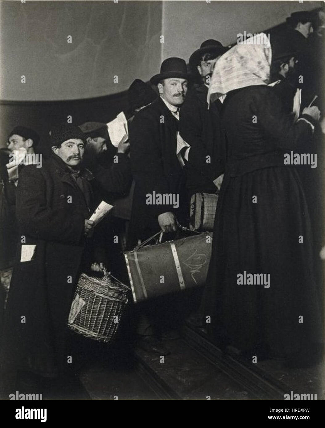
<instances>
[{"instance_id":1,"label":"large suitcase with light straps and chalk scrawl on its side","mask_svg":"<svg viewBox=\"0 0 325 428\"><path fill-rule=\"evenodd\" d=\"M125 252L134 302L204 285L211 245L202 233Z\"/></svg>"}]
</instances>

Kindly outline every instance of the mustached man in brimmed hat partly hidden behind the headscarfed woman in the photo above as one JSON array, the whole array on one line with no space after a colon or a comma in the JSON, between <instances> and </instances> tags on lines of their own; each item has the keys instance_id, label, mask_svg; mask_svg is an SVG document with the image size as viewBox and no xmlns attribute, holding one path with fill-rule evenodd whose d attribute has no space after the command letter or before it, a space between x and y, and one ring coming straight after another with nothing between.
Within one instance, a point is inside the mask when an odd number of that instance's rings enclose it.
<instances>
[{"instance_id":1,"label":"mustached man in brimmed hat partly hidden behind the headscarfed woman","mask_svg":"<svg viewBox=\"0 0 325 428\"><path fill-rule=\"evenodd\" d=\"M189 60L193 73L199 73L200 83L187 94L181 107L180 134L190 145L188 152L187 196L194 193L216 193L223 173L225 147L220 132L221 102L208 110L207 95L214 65L227 51L217 40L206 40Z\"/></svg>"}]
</instances>

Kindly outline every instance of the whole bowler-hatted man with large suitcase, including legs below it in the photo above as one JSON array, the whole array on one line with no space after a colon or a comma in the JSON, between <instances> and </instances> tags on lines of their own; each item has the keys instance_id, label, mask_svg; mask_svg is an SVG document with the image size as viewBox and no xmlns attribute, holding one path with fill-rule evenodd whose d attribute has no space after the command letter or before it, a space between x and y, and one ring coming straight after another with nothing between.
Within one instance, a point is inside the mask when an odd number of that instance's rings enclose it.
<instances>
[{"instance_id":1,"label":"whole bowler-hatted man with large suitcase, including legs below it","mask_svg":"<svg viewBox=\"0 0 325 428\"><path fill-rule=\"evenodd\" d=\"M184 103L188 79L183 59L165 59L160 73L150 79L158 88L159 98L135 115L130 128L130 158L135 180L130 225L133 246L159 230L172 239L178 223L186 221L187 213L182 211L184 169L177 156L177 134L179 108ZM146 195L153 192L179 194L179 208L147 205ZM142 339L139 341L142 348L166 355L169 351L157 339L175 338L172 330L178 321L172 318L176 311L171 310L169 297L158 300L147 302L147 316L141 312L137 333Z\"/></svg>"}]
</instances>

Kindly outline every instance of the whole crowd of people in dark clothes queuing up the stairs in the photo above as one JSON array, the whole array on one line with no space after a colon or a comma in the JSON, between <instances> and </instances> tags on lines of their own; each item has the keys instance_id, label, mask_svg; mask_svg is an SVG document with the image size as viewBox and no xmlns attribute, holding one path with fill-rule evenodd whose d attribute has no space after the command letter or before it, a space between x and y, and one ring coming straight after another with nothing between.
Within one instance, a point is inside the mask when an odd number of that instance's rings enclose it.
<instances>
[{"instance_id":1,"label":"whole crowd of people in dark clothes queuing up the stairs","mask_svg":"<svg viewBox=\"0 0 325 428\"><path fill-rule=\"evenodd\" d=\"M43 142L42 164L36 156L18 162L18 154L38 153L39 136L12 130L1 153L8 382L17 373L66 372L67 356L76 354L67 319L80 272L105 265L127 281L122 251L159 230L166 241L177 238L196 193L219 199L207 282L187 322L250 360L319 360L322 283L313 266L324 244L322 17L293 13L271 32L271 44L256 36L232 47L206 40L190 56L190 72L184 59L165 59L151 85L130 86L127 138L115 146L106 124L61 123ZM287 165L290 152L318 154L317 168ZM179 206L150 205L148 194L178 195ZM115 212L94 227L89 218L101 200ZM270 284L238 280L250 273L269 275ZM180 293L137 310L135 334L146 351L169 353L161 339L177 337L181 302Z\"/></svg>"}]
</instances>

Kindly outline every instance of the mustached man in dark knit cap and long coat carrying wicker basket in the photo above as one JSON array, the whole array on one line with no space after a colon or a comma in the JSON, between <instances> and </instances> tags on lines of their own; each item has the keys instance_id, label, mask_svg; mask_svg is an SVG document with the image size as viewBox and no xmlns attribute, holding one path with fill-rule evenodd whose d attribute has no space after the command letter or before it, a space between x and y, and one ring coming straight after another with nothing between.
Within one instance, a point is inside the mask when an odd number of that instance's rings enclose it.
<instances>
[{"instance_id":1,"label":"mustached man in dark knit cap and long coat carrying wicker basket","mask_svg":"<svg viewBox=\"0 0 325 428\"><path fill-rule=\"evenodd\" d=\"M72 124L57 125L50 144L51 157L42 167L24 166L19 178L18 251L4 328L3 368L33 375L34 382L75 368L67 320L81 266L90 268L83 255L96 208L93 175L81 165L82 131ZM114 171L107 172L107 190L116 191L113 178Z\"/></svg>"}]
</instances>

